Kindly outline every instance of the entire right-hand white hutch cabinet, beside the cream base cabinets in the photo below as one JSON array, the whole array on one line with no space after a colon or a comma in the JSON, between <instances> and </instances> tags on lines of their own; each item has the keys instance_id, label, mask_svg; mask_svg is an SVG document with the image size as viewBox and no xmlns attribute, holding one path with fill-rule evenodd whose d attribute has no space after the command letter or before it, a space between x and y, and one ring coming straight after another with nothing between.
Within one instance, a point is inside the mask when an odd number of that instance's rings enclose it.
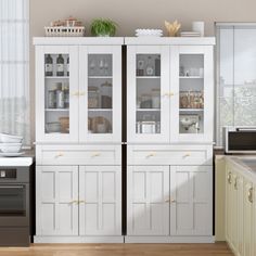
<instances>
[{"instance_id":1,"label":"entire right-hand white hutch cabinet, beside the cream base cabinets","mask_svg":"<svg viewBox=\"0 0 256 256\"><path fill-rule=\"evenodd\" d=\"M214 242L215 38L125 38L126 242Z\"/></svg>"}]
</instances>

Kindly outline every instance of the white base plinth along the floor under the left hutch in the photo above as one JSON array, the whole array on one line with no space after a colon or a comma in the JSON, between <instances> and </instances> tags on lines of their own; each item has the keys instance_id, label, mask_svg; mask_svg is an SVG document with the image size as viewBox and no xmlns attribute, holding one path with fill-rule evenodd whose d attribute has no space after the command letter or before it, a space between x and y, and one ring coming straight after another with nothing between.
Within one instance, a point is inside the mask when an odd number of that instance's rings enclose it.
<instances>
[{"instance_id":1,"label":"white base plinth along the floor under the left hutch","mask_svg":"<svg viewBox=\"0 0 256 256\"><path fill-rule=\"evenodd\" d=\"M47 236L35 235L34 243L124 243L124 235L116 236Z\"/></svg>"}]
</instances>

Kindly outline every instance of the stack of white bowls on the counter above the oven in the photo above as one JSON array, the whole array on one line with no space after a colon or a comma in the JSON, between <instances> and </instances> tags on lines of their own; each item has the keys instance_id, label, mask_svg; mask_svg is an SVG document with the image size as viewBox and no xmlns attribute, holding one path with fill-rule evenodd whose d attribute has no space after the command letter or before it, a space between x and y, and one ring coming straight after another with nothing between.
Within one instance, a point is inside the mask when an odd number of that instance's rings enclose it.
<instances>
[{"instance_id":1,"label":"stack of white bowls on the counter above the oven","mask_svg":"<svg viewBox=\"0 0 256 256\"><path fill-rule=\"evenodd\" d=\"M24 154L24 152L21 152L23 137L0 133L0 156L20 156Z\"/></svg>"}]
</instances>

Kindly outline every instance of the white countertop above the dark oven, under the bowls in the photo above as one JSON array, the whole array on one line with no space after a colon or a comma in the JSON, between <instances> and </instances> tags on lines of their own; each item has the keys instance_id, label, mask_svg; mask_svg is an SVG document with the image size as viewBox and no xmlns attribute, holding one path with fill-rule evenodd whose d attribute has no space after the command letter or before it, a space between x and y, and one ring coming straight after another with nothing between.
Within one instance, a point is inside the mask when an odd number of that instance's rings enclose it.
<instances>
[{"instance_id":1,"label":"white countertop above the dark oven, under the bowls","mask_svg":"<svg viewBox=\"0 0 256 256\"><path fill-rule=\"evenodd\" d=\"M0 156L0 166L30 166L35 162L35 151L25 151L25 154L17 157Z\"/></svg>"}]
</instances>

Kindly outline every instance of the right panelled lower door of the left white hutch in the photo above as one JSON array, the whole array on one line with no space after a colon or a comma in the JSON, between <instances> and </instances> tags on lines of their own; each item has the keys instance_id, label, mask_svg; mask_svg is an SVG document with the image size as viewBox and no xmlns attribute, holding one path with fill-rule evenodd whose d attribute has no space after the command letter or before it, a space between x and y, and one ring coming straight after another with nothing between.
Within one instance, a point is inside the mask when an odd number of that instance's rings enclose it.
<instances>
[{"instance_id":1,"label":"right panelled lower door of the left white hutch","mask_svg":"<svg viewBox=\"0 0 256 256\"><path fill-rule=\"evenodd\" d=\"M121 167L79 167L79 234L121 235Z\"/></svg>"}]
</instances>

